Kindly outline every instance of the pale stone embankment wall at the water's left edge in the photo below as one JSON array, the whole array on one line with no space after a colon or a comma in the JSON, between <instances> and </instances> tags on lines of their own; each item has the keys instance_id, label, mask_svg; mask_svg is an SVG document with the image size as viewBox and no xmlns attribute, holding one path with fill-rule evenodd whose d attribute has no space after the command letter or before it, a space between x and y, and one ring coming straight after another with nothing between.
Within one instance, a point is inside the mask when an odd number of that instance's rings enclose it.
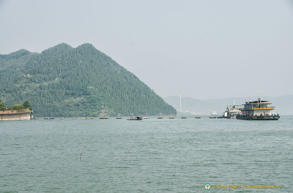
<instances>
[{"instance_id":1,"label":"pale stone embankment wall at the water's left edge","mask_svg":"<svg viewBox=\"0 0 293 193\"><path fill-rule=\"evenodd\" d=\"M31 111L28 109L0 111L0 121L31 120Z\"/></svg>"}]
</instances>

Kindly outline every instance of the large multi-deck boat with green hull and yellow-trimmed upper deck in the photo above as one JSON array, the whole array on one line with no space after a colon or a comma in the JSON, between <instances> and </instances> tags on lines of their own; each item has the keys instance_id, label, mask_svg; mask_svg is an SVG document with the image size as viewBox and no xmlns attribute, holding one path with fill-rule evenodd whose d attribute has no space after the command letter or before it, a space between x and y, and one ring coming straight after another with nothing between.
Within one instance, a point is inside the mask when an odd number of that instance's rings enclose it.
<instances>
[{"instance_id":1,"label":"large multi-deck boat with green hull and yellow-trimmed upper deck","mask_svg":"<svg viewBox=\"0 0 293 193\"><path fill-rule=\"evenodd\" d=\"M261 93L260 98L256 101L249 101L243 104L243 107L240 108L241 113L236 116L236 119L239 120L278 120L280 119L279 114L273 114L272 110L275 109L274 106L271 106L271 102L262 100Z\"/></svg>"}]
</instances>

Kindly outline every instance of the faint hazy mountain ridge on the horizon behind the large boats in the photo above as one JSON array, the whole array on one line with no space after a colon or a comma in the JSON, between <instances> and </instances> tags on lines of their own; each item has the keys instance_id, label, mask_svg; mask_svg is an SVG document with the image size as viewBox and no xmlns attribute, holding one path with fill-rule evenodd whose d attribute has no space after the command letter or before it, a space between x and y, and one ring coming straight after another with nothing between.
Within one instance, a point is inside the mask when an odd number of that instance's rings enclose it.
<instances>
[{"instance_id":1,"label":"faint hazy mountain ridge on the horizon behind the large boats","mask_svg":"<svg viewBox=\"0 0 293 193\"><path fill-rule=\"evenodd\" d=\"M251 101L257 100L257 96L251 97ZM177 111L180 111L180 97L169 96L164 100L172 105ZM217 112L219 115L226 110L227 105L233 105L235 100L236 105L242 105L245 101L249 101L249 98L245 97L230 97L223 99L207 99L199 100L191 97L182 97L182 111L186 113L198 113L203 115L209 115L212 112ZM280 96L280 97L263 97L262 100L268 100L275 106L275 113L280 115L292 115L293 114L293 95Z\"/></svg>"}]
</instances>

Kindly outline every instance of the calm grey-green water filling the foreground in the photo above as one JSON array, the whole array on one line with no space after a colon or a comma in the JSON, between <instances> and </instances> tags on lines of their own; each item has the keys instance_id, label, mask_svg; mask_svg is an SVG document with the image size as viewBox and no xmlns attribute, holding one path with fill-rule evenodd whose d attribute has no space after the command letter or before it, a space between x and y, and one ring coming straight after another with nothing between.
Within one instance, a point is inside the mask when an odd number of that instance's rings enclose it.
<instances>
[{"instance_id":1,"label":"calm grey-green water filling the foreground","mask_svg":"<svg viewBox=\"0 0 293 193\"><path fill-rule=\"evenodd\" d=\"M2 121L0 192L293 192L292 128L292 116Z\"/></svg>"}]
</instances>

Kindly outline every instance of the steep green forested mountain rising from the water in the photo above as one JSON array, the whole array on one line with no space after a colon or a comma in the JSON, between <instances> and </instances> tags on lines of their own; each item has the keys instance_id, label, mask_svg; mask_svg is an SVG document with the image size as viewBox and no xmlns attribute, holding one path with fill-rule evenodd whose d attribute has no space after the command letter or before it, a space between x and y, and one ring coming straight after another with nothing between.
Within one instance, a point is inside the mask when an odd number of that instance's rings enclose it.
<instances>
[{"instance_id":1,"label":"steep green forested mountain rising from the water","mask_svg":"<svg viewBox=\"0 0 293 193\"><path fill-rule=\"evenodd\" d=\"M176 114L133 73L91 44L0 55L0 83L0 98L7 106L29 101L35 117Z\"/></svg>"}]
</instances>

